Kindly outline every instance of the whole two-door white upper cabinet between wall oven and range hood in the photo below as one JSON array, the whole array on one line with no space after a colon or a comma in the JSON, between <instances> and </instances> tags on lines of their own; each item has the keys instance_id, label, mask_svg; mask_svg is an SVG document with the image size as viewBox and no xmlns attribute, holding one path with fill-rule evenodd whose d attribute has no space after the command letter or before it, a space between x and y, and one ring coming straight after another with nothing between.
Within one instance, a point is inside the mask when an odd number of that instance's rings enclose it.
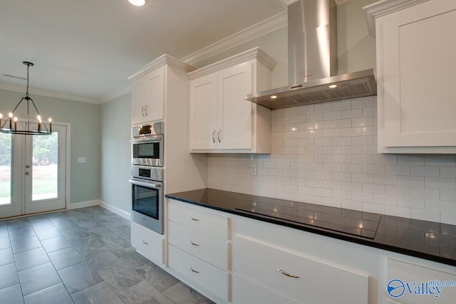
<instances>
[{"instance_id":1,"label":"whole two-door white upper cabinet between wall oven and range hood","mask_svg":"<svg viewBox=\"0 0 456 304\"><path fill-rule=\"evenodd\" d=\"M190 152L271 152L271 111L245 95L269 88L274 64L254 48L188 74Z\"/></svg>"}]
</instances>

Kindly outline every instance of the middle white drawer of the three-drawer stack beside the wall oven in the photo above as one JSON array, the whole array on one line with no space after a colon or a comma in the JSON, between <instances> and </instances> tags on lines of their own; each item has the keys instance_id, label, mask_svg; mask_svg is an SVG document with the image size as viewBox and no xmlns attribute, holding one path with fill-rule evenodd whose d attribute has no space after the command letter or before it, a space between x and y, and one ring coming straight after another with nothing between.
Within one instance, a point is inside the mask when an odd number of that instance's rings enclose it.
<instances>
[{"instance_id":1,"label":"middle white drawer of the three-drawer stack beside the wall oven","mask_svg":"<svg viewBox=\"0 0 456 304\"><path fill-rule=\"evenodd\" d=\"M224 271L228 271L228 241L216 239L207 234L188 229L170 222L168 224L168 242L197 258L206 261Z\"/></svg>"}]
</instances>

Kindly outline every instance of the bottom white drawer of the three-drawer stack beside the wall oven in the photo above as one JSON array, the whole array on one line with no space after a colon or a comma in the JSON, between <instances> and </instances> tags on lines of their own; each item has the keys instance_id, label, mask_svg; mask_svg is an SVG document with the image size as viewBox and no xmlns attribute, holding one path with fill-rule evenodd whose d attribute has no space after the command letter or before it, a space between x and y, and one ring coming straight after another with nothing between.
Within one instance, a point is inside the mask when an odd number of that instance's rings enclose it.
<instances>
[{"instance_id":1,"label":"bottom white drawer of the three-drawer stack beside the wall oven","mask_svg":"<svg viewBox=\"0 0 456 304\"><path fill-rule=\"evenodd\" d=\"M168 247L168 260L170 268L217 297L228 300L229 273L204 263L172 245Z\"/></svg>"}]
</instances>

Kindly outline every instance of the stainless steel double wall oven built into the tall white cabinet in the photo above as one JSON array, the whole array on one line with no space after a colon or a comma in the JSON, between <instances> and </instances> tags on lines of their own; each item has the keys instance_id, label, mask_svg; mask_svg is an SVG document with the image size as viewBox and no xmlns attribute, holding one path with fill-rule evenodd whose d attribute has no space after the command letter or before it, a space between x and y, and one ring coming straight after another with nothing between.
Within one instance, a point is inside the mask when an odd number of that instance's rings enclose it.
<instances>
[{"instance_id":1,"label":"stainless steel double wall oven built into the tall white cabinet","mask_svg":"<svg viewBox=\"0 0 456 304\"><path fill-rule=\"evenodd\" d=\"M163 234L163 122L131 130L131 220Z\"/></svg>"}]
</instances>

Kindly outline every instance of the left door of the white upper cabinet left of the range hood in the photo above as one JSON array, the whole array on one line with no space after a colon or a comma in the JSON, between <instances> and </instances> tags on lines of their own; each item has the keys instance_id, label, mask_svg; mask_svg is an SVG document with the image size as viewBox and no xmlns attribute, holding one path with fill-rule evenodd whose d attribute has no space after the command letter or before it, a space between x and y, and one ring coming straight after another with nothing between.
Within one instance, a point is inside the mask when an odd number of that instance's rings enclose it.
<instances>
[{"instance_id":1,"label":"left door of the white upper cabinet left of the range hood","mask_svg":"<svg viewBox=\"0 0 456 304\"><path fill-rule=\"evenodd\" d=\"M217 148L217 73L190 81L190 149Z\"/></svg>"}]
</instances>

